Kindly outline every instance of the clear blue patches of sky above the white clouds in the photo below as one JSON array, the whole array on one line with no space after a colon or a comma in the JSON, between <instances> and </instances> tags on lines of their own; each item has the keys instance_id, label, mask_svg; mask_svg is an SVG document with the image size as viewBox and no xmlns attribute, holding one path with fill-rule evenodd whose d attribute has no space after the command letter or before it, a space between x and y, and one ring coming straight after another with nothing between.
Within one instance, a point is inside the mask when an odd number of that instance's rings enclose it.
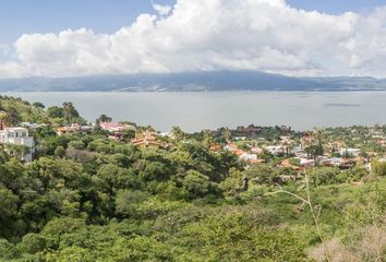
<instances>
[{"instance_id":1,"label":"clear blue patches of sky above the white clouds","mask_svg":"<svg viewBox=\"0 0 386 262\"><path fill-rule=\"evenodd\" d=\"M156 0L172 5L174 0ZM287 0L294 8L339 14L366 12L386 0ZM112 33L130 25L141 13L155 13L150 0L1 0L0 40L11 43L22 34L92 28Z\"/></svg>"}]
</instances>

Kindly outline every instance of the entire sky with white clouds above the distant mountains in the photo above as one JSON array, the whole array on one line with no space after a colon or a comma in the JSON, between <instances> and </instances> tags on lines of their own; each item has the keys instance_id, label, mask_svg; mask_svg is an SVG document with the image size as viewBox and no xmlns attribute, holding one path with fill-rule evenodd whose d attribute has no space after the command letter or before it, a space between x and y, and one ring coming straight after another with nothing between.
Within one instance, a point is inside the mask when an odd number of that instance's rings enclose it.
<instances>
[{"instance_id":1,"label":"entire sky with white clouds above the distant mountains","mask_svg":"<svg viewBox=\"0 0 386 262\"><path fill-rule=\"evenodd\" d=\"M386 78L386 0L2 0L0 78Z\"/></svg>"}]
</instances>

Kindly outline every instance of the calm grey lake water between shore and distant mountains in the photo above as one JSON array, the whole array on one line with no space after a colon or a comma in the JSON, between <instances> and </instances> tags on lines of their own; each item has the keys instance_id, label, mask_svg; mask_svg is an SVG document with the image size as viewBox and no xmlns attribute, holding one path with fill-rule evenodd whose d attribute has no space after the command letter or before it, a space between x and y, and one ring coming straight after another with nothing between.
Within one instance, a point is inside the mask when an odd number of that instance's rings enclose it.
<instances>
[{"instance_id":1,"label":"calm grey lake water between shore and distant mountains","mask_svg":"<svg viewBox=\"0 0 386 262\"><path fill-rule=\"evenodd\" d=\"M73 102L89 121L101 114L168 131L260 126L386 123L386 92L4 93L46 106Z\"/></svg>"}]
</instances>

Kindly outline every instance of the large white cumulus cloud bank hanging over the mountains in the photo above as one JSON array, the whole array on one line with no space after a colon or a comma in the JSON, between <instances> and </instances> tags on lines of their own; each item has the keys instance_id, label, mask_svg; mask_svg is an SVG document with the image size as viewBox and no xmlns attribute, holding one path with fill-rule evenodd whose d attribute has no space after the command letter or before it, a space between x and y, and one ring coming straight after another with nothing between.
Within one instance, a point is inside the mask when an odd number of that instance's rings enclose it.
<instances>
[{"instance_id":1,"label":"large white cumulus cloud bank hanging over the mountains","mask_svg":"<svg viewBox=\"0 0 386 262\"><path fill-rule=\"evenodd\" d=\"M263 70L386 76L386 8L330 15L285 0L178 0L113 34L26 34L1 76Z\"/></svg>"}]
</instances>

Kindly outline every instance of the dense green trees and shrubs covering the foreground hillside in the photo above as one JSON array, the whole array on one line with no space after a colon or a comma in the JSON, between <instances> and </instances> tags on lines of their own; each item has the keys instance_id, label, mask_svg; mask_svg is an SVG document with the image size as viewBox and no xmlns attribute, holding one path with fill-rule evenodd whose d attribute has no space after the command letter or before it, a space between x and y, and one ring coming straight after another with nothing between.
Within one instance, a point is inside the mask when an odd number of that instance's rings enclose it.
<instances>
[{"instance_id":1,"label":"dense green trees and shrubs covering the foreground hillside","mask_svg":"<svg viewBox=\"0 0 386 262\"><path fill-rule=\"evenodd\" d=\"M167 148L138 148L98 129L58 136L52 124L84 121L69 103L0 105L9 123L48 123L34 133L33 163L0 153L0 260L386 261L382 164L306 175L274 156L246 166L209 150L224 135L174 129ZM282 174L297 180L278 188Z\"/></svg>"}]
</instances>

